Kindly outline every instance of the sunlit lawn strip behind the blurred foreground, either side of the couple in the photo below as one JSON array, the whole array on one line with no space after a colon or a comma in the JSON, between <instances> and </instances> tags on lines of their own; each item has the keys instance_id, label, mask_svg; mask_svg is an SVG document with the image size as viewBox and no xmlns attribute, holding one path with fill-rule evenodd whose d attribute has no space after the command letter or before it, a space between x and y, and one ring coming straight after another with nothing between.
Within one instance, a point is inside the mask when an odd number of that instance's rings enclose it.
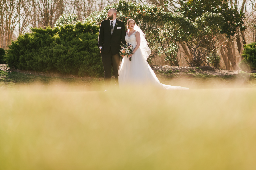
<instances>
[{"instance_id":1,"label":"sunlit lawn strip behind the blurred foreground, either side of the couple","mask_svg":"<svg viewBox=\"0 0 256 170\"><path fill-rule=\"evenodd\" d=\"M168 85L180 85L190 89L198 88L229 88L229 87L256 87L256 73L241 73L236 75L208 75L200 73L166 74L156 73L161 83ZM61 84L72 86L86 86L87 90L104 88L104 78L92 77L47 77L19 72L0 71L0 87L12 88L15 85L26 84ZM114 79L112 78L112 84Z\"/></svg>"}]
</instances>

